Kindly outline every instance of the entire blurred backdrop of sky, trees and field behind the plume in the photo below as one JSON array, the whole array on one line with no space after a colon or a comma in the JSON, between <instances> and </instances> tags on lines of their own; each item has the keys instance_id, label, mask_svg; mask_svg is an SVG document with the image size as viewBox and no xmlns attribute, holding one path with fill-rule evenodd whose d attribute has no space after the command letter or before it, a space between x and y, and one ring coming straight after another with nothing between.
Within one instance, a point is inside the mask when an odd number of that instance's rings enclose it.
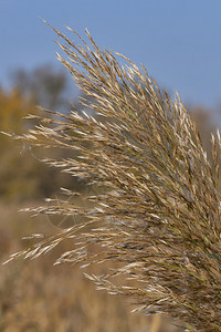
<instances>
[{"instance_id":1,"label":"entire blurred backdrop of sky, trees and field behind the plume","mask_svg":"<svg viewBox=\"0 0 221 332\"><path fill-rule=\"evenodd\" d=\"M43 18L63 32L87 28L101 48L144 64L170 95L178 91L210 157L210 133L221 125L220 12L219 0L0 0L0 131L25 132L22 117L38 105L69 113L77 104ZM56 231L52 220L18 209L55 198L60 187L85 189L40 157L0 136L0 263L25 248L23 236ZM78 267L53 267L60 252L0 266L0 331L183 331L158 315L130 314L125 299L95 291Z\"/></svg>"}]
</instances>

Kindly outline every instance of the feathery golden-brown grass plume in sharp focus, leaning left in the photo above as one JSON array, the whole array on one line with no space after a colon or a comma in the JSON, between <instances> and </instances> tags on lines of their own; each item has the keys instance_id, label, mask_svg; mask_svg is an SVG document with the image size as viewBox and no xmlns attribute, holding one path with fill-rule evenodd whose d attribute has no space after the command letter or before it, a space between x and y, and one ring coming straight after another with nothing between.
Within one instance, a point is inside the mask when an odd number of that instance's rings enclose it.
<instances>
[{"instance_id":1,"label":"feathery golden-brown grass plume in sharp focus, leaning left","mask_svg":"<svg viewBox=\"0 0 221 332\"><path fill-rule=\"evenodd\" d=\"M198 331L221 331L219 133L210 164L178 95L172 101L145 68L101 50L88 31L87 43L71 30L80 44L54 31L67 55L57 58L86 95L85 112L45 113L20 138L69 149L69 158L45 162L84 177L95 194L64 190L66 200L33 208L82 218L17 256L36 257L75 237L75 248L57 263L115 261L106 274L90 277L98 288L130 297L145 313L162 312ZM77 195L92 207L75 206L70 198ZM120 284L117 276L124 277ZM127 278L135 283L128 286Z\"/></svg>"}]
</instances>

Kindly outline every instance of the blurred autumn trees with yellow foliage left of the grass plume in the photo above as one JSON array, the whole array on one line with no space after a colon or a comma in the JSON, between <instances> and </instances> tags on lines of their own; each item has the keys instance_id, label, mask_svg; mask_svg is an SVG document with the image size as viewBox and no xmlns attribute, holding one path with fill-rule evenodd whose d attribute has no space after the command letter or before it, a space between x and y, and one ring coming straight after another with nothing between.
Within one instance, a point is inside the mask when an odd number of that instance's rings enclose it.
<instances>
[{"instance_id":1,"label":"blurred autumn trees with yellow foliage left of the grass plume","mask_svg":"<svg viewBox=\"0 0 221 332\"><path fill-rule=\"evenodd\" d=\"M29 74L18 71L12 90L0 90L0 131L17 135L24 133L30 126L24 117L29 113L41 114L40 104L54 110L62 105L67 107L62 98L66 84L63 73L54 73L48 66ZM11 137L1 135L0 154L0 199L4 201L51 197L61 186L70 184L65 175L41 163L42 152L33 153ZM53 152L50 156L54 157L54 154L57 156L61 152ZM71 179L71 183L77 185L76 179Z\"/></svg>"}]
</instances>

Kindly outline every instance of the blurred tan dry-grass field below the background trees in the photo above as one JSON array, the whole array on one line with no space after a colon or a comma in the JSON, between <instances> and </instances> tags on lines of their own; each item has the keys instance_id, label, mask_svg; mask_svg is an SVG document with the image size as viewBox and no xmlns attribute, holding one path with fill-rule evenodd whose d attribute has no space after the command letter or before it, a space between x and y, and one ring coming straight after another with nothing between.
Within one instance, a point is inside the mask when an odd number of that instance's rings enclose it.
<instances>
[{"instance_id":1,"label":"blurred tan dry-grass field below the background trees","mask_svg":"<svg viewBox=\"0 0 221 332\"><path fill-rule=\"evenodd\" d=\"M0 206L0 263L25 247L24 235L53 231L41 218L18 214L17 206ZM36 225L38 224L38 225ZM67 248L32 261L1 267L0 331L49 332L178 332L168 319L130 313L125 299L96 291L78 266L53 266ZM97 267L102 272L102 268Z\"/></svg>"}]
</instances>

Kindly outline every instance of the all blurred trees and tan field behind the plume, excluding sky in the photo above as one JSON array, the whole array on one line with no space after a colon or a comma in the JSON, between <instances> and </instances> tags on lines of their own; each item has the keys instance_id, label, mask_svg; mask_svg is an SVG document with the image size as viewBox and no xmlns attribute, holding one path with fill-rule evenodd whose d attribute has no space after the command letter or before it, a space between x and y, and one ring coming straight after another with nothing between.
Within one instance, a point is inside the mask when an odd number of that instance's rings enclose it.
<instances>
[{"instance_id":1,"label":"all blurred trees and tan field behind the plume, excluding sky","mask_svg":"<svg viewBox=\"0 0 221 332\"><path fill-rule=\"evenodd\" d=\"M29 113L40 113L42 104L49 108L66 107L62 95L66 79L50 68L35 70L31 75L23 71L14 75L11 91L0 90L0 131L17 134L27 129L22 120ZM65 112L65 111L64 111ZM204 148L210 157L210 133L214 129L210 113L191 110L198 124ZM61 154L54 151L53 154ZM27 242L23 236L32 232L54 232L45 218L30 218L18 214L21 205L54 197L60 187L84 184L70 178L40 162L43 155L17 144L10 137L0 138L0 262L11 252L21 250ZM48 155L49 156L49 155ZM60 155L60 158L63 156ZM36 204L38 205L38 204ZM130 314L119 297L97 292L75 267L53 267L57 250L34 261L17 261L0 268L0 331L183 331L168 320Z\"/></svg>"}]
</instances>

